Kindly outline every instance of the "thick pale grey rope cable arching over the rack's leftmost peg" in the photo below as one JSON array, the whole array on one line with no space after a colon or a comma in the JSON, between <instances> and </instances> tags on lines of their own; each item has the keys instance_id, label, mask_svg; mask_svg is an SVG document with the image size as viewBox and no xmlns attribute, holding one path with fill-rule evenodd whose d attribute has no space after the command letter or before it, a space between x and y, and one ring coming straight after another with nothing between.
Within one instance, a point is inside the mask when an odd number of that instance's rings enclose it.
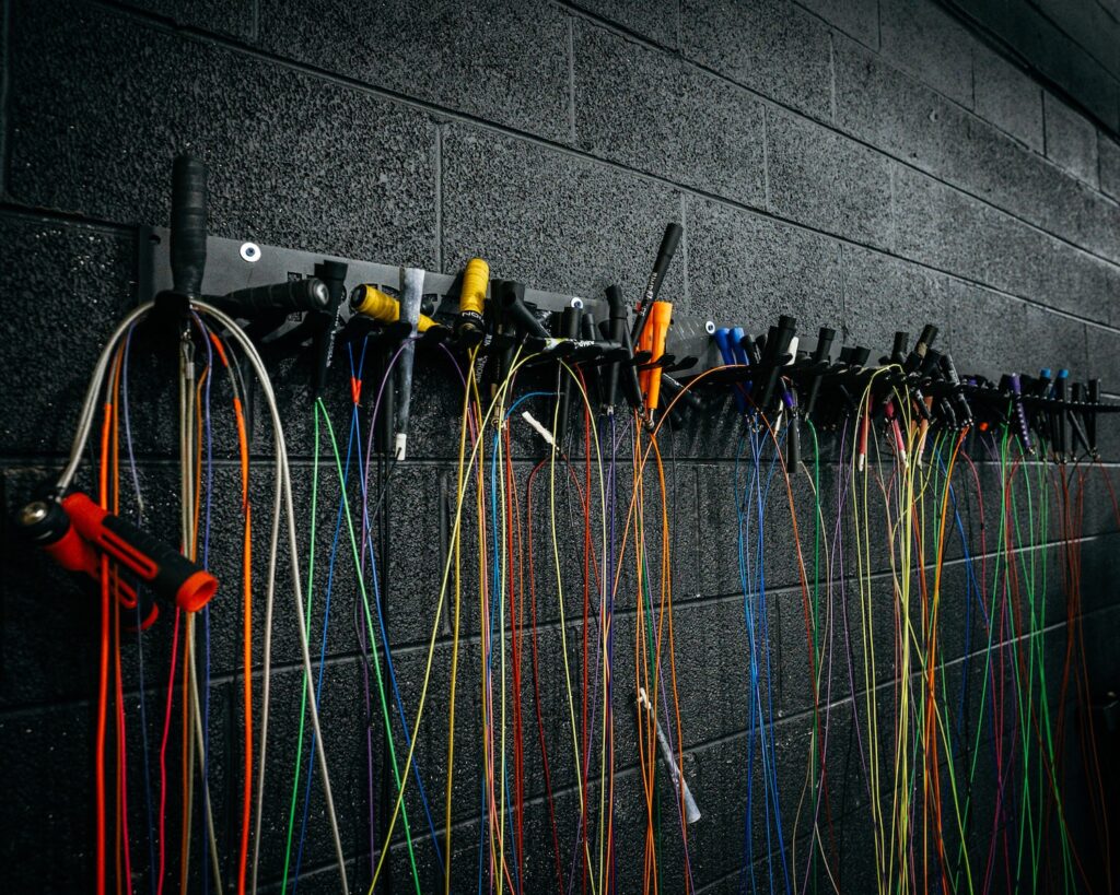
<instances>
[{"instance_id":1,"label":"thick pale grey rope cable arching over the rack's leftmost peg","mask_svg":"<svg viewBox=\"0 0 1120 895\"><path fill-rule=\"evenodd\" d=\"M139 308L131 311L125 318L118 324L116 329L110 336L105 348L102 350L101 357L97 359L94 366L93 375L90 378L90 385L86 389L85 398L82 405L82 413L78 417L77 432L74 436L74 443L71 447L69 460L58 478L58 482L55 486L55 491L57 496L62 496L69 488L77 473L78 465L82 462L82 455L85 452L86 443L90 439L90 433L93 430L94 417L96 416L97 408L97 397L101 394L102 387L104 386L105 373L109 369L109 364L112 358L118 343L128 333L134 323L143 320L155 308L155 302L147 302ZM206 314L213 318L218 324L221 324L228 333L228 336L241 347L245 357L248 358L250 366L253 368L253 373L256 375L261 384L261 394L264 397L264 404L268 408L269 418L272 423L272 435L274 441L274 453L276 453L276 490L273 492L272 501L272 533L269 547L269 571L265 585L265 610L264 610L264 650L263 650L263 662L262 662L262 710L261 710L261 747L259 754L258 763L258 786L256 786L256 821L253 835L253 868L252 868L252 883L250 891L256 892L258 882L258 866L260 860L260 844L261 844L261 809L264 801L264 769L265 769L265 747L268 744L268 724L269 724L269 696L270 696L270 680L271 680L271 667L272 667L272 611L273 611L273 596L276 593L276 573L277 573L277 556L279 552L280 544L280 516L281 516L281 500L283 503L283 512L287 516L287 537L289 552L291 556L291 572L292 572L292 595L296 602L296 615L299 629L299 647L300 657L304 665L305 681L308 687L308 703L309 703L309 714L311 717L311 728L315 733L315 747L319 757L319 770L323 773L323 792L326 801L327 819L330 823L330 835L334 840L335 857L338 861L338 874L342 882L342 891L347 892L347 879L346 879L346 859L343 854L342 836L338 830L338 817L335 810L334 794L330 788L330 776L327 767L327 755L326 748L323 743L323 731L319 727L319 713L315 700L314 693L314 675L311 672L311 657L310 647L308 643L306 630L306 619L304 616L304 596L301 572L299 566L299 555L297 553L298 545L296 539L296 512L295 512L295 501L292 499L291 490L291 471L288 463L288 449L284 442L283 426L280 422L280 413L277 407L276 394L272 389L272 381L269 378L268 370L264 368L264 362L261 360L256 348L253 346L250 338L245 332L237 326L233 318L202 301L192 300L190 308L202 314ZM185 406L185 405L184 405ZM188 464L189 465L189 464ZM189 477L189 473L187 473ZM189 481L189 479L188 479ZM184 493L186 493L186 486L184 487ZM189 505L188 505L189 506ZM186 516L184 517L187 518ZM185 541L187 543L187 541ZM188 615L189 619L189 615ZM192 673L193 677L193 673ZM200 718L197 719L197 724L200 725ZM197 732L196 732L197 735ZM211 823L211 832L213 833L213 825ZM216 860L216 858L215 858Z\"/></svg>"}]
</instances>

